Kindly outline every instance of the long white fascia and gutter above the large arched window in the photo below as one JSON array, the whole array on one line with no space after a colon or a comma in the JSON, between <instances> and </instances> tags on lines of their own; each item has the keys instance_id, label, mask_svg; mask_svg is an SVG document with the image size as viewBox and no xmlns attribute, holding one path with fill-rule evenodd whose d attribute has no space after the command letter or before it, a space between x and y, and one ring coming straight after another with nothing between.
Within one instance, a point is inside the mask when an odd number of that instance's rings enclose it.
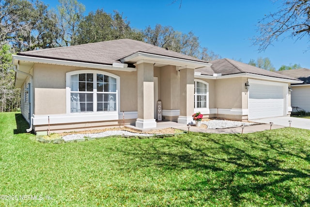
<instances>
[{"instance_id":1,"label":"long white fascia and gutter above the large arched window","mask_svg":"<svg viewBox=\"0 0 310 207\"><path fill-rule=\"evenodd\" d=\"M25 61L25 62L32 62L32 63L68 65L68 66L87 67L87 68L106 69L106 70L120 70L120 71L127 71L127 72L137 71L136 68L111 66L107 64L93 64L93 63L83 63L83 62L75 62L75 61L54 60L54 59L48 59L48 58L38 58L38 57L21 56L21 55L12 55L12 56L13 56L13 63L15 65L18 64L18 61Z\"/></svg>"}]
</instances>

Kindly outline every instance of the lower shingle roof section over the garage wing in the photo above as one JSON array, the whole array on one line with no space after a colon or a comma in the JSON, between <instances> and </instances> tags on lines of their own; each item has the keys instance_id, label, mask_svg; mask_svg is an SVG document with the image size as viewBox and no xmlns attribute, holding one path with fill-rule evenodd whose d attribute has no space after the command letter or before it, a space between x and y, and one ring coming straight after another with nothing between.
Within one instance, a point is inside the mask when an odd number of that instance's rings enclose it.
<instances>
[{"instance_id":1,"label":"lower shingle roof section over the garage wing","mask_svg":"<svg viewBox=\"0 0 310 207\"><path fill-rule=\"evenodd\" d=\"M281 79L290 79L290 80L296 80L295 78L288 77L279 73L275 73L272 71L264 70L259 67L255 67L249 64L241 63L238 61L234 61L231 59L218 59L214 61L210 61L211 68L203 67L196 69L196 72L201 72L202 75L208 75L213 76L214 73L216 74L222 74L222 76L225 75L231 75L231 74L241 74L241 73L250 73L250 74L256 74L256 75L262 75L262 76L268 76L268 77L275 77L275 78L281 78Z\"/></svg>"}]
</instances>

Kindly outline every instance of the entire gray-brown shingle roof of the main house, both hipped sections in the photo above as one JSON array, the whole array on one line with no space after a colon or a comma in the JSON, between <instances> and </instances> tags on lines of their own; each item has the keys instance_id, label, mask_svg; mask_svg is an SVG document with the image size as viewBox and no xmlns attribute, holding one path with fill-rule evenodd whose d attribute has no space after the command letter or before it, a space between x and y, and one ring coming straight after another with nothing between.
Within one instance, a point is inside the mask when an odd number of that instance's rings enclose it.
<instances>
[{"instance_id":1,"label":"entire gray-brown shingle roof of the main house, both hipped sections","mask_svg":"<svg viewBox=\"0 0 310 207\"><path fill-rule=\"evenodd\" d=\"M206 61L202 61L200 59L178 52L131 39L119 39L70 47L32 50L27 52L20 52L17 53L17 55L111 65L113 63L121 63L120 60L122 58L125 58L136 52L145 52L155 55L208 63ZM211 67L203 67L196 69L196 71L201 72L202 75L210 76L213 76L214 73L221 73L222 75L252 73L269 77L296 80L290 76L263 70L252 65L240 63L227 58L218 59L209 63L212 64Z\"/></svg>"}]
</instances>

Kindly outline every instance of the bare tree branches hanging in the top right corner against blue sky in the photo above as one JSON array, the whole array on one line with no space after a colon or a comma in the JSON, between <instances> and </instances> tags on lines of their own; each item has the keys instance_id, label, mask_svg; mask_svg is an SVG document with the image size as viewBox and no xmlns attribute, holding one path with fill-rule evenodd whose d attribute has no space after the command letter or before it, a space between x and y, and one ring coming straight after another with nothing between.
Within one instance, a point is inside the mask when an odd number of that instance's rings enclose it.
<instances>
[{"instance_id":1,"label":"bare tree branches hanging in the top right corner against blue sky","mask_svg":"<svg viewBox=\"0 0 310 207\"><path fill-rule=\"evenodd\" d=\"M259 51L279 37L294 40L310 39L310 0L284 0L278 12L266 15L258 25L260 35L253 39Z\"/></svg>"}]
</instances>

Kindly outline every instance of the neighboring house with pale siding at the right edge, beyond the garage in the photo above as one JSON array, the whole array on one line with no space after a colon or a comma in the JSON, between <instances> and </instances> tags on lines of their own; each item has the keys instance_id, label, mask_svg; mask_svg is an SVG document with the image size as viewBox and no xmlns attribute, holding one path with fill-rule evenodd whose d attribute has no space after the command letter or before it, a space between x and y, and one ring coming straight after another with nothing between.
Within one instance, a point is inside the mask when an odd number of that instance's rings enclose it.
<instances>
[{"instance_id":1,"label":"neighboring house with pale siding at the right edge, beyond the garage","mask_svg":"<svg viewBox=\"0 0 310 207\"><path fill-rule=\"evenodd\" d=\"M310 69L299 68L293 70L276 71L294 79L302 80L302 83L292 84L291 101L293 111L310 112Z\"/></svg>"}]
</instances>

